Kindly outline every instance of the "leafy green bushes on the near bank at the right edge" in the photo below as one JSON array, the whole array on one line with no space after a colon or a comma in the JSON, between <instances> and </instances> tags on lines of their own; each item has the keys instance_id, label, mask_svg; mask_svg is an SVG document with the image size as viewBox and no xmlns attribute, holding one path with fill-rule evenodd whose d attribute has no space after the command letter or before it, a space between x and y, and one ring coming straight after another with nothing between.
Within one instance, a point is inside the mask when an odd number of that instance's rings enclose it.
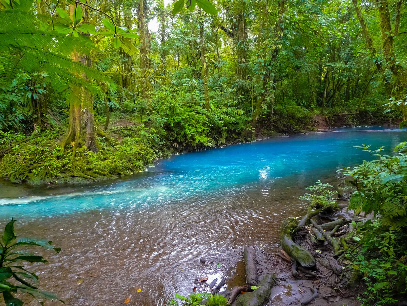
<instances>
[{"instance_id":1,"label":"leafy green bushes on the near bank at the right edge","mask_svg":"<svg viewBox=\"0 0 407 306\"><path fill-rule=\"evenodd\" d=\"M393 305L407 293L407 152L406 142L396 146L394 155L382 155L383 148L369 150L376 157L344 169L356 187L350 209L372 213L360 224L354 239L361 242L352 259L352 268L365 280L363 305Z\"/></svg>"}]
</instances>

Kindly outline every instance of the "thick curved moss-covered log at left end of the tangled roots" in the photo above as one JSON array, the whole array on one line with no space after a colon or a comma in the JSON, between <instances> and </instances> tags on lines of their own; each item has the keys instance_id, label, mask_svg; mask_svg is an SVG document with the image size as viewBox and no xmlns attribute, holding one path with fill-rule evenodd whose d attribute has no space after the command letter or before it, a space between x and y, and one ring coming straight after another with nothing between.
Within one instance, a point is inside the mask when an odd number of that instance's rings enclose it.
<instances>
[{"instance_id":1,"label":"thick curved moss-covered log at left end of the tangled roots","mask_svg":"<svg viewBox=\"0 0 407 306\"><path fill-rule=\"evenodd\" d=\"M298 227L295 218L287 218L281 225L281 246L284 251L301 266L305 268L315 267L315 258L303 246L295 244L292 238L292 233Z\"/></svg>"}]
</instances>

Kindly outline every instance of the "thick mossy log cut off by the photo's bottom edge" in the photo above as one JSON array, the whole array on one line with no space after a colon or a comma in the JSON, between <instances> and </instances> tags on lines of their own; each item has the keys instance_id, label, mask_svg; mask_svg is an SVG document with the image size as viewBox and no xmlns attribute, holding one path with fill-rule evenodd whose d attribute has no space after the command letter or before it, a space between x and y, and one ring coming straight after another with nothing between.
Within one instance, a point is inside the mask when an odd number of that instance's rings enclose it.
<instances>
[{"instance_id":1,"label":"thick mossy log cut off by the photo's bottom edge","mask_svg":"<svg viewBox=\"0 0 407 306\"><path fill-rule=\"evenodd\" d=\"M239 295L236 306L263 306L269 302L271 288L276 284L275 274L266 274L257 284L260 288L252 292Z\"/></svg>"}]
</instances>

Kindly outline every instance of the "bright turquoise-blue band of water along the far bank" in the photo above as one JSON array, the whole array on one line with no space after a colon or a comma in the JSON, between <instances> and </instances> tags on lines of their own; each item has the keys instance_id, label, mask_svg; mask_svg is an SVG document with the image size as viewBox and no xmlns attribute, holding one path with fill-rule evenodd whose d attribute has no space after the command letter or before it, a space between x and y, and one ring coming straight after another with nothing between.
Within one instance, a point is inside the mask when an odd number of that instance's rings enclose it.
<instances>
[{"instance_id":1,"label":"bright turquoise-blue band of water along the far bank","mask_svg":"<svg viewBox=\"0 0 407 306\"><path fill-rule=\"evenodd\" d=\"M0 218L35 219L109 208L165 205L263 186L304 188L338 169L370 159L361 144L390 152L407 132L380 127L341 128L334 133L294 135L225 148L175 155L125 180L94 186L30 188L25 197L0 195ZM0 186L1 187L1 186ZM46 195L44 195L46 194Z\"/></svg>"}]
</instances>

